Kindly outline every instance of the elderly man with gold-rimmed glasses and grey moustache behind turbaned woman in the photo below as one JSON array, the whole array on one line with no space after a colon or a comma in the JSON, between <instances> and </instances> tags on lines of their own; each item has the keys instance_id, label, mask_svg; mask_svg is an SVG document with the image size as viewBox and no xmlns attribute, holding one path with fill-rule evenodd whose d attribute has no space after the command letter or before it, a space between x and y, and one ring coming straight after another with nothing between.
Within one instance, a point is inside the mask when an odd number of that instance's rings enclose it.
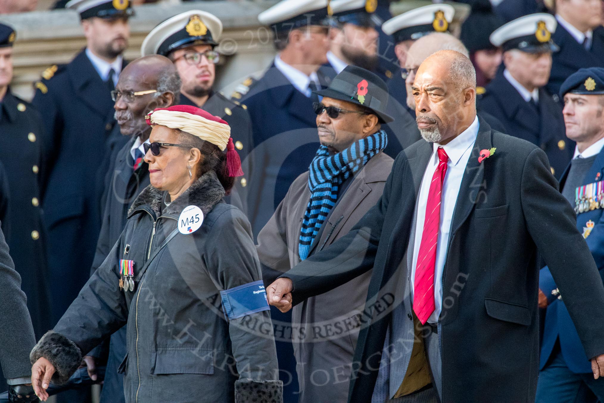
<instances>
[{"instance_id":1,"label":"elderly man with gold-rimmed glasses and grey moustache behind turbaned woman","mask_svg":"<svg viewBox=\"0 0 604 403\"><path fill-rule=\"evenodd\" d=\"M141 190L149 185L149 167L143 160L143 144L148 143L151 126L145 115L155 108L176 105L180 98L181 79L172 60L151 55L129 63L120 74L112 92L117 129L114 150L106 160L104 208L101 232L92 263L91 274L103 263L126 225L127 211ZM118 133L116 133L118 131ZM126 141L124 141L126 140ZM116 144L121 144L118 147ZM118 367L126 355L126 328L111 336L109 358L101 392L101 403L124 402L123 373ZM104 346L106 349L106 346ZM97 358L103 348L97 347L84 357L88 374L97 380ZM84 363L83 363L84 364Z\"/></svg>"}]
</instances>

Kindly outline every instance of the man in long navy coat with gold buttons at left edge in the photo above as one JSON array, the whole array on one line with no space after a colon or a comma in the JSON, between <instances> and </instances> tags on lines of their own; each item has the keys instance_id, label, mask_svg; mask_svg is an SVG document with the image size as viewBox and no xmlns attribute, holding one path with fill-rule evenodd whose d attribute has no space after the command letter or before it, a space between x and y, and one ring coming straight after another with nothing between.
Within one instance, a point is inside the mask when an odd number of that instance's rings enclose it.
<instances>
[{"instance_id":1,"label":"man in long navy coat with gold buttons at left edge","mask_svg":"<svg viewBox=\"0 0 604 403\"><path fill-rule=\"evenodd\" d=\"M13 77L13 28L0 24L0 133L4 165L10 188L10 209L2 227L10 225L11 257L21 274L21 288L27 295L27 308L37 337L47 332L50 323L50 291L40 199L42 117L29 103L11 94Z\"/></svg>"}]
</instances>

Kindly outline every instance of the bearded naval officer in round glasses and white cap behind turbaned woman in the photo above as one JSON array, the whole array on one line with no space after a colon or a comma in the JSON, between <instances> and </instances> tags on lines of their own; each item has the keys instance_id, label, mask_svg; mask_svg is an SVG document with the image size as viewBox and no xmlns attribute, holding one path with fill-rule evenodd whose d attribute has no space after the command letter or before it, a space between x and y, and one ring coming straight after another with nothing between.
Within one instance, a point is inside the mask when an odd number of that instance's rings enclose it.
<instances>
[{"instance_id":1,"label":"bearded naval officer in round glasses and white cap behind turbaned woman","mask_svg":"<svg viewBox=\"0 0 604 403\"><path fill-rule=\"evenodd\" d=\"M253 146L252 123L246 105L214 91L220 59L215 48L221 33L222 22L216 16L202 10L185 11L153 28L143 41L141 54L161 54L174 62L182 80L181 105L202 108L231 126L244 176L237 178L229 202L245 210L242 189L249 185L251 161L246 157Z\"/></svg>"}]
</instances>

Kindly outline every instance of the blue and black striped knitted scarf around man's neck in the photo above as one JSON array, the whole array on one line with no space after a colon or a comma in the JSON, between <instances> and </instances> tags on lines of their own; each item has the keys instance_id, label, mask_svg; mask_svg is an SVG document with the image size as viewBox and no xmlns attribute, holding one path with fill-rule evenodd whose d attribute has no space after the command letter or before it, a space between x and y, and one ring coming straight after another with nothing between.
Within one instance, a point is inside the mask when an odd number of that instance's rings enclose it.
<instances>
[{"instance_id":1,"label":"blue and black striped knitted scarf around man's neck","mask_svg":"<svg viewBox=\"0 0 604 403\"><path fill-rule=\"evenodd\" d=\"M387 144L386 133L381 130L356 141L335 155L329 155L327 146L319 148L309 167L308 187L312 195L300 230L300 260L308 257L310 245L319 233L327 214L338 201L338 189L342 182L362 169L367 161L384 150Z\"/></svg>"}]
</instances>

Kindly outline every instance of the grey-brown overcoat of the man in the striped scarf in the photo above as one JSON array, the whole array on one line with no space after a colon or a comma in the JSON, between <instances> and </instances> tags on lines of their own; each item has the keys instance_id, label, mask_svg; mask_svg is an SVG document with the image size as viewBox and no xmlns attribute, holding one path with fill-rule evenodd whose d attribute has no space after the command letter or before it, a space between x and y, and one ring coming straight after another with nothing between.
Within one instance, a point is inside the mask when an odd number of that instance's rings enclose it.
<instances>
[{"instance_id":1,"label":"grey-brown overcoat of the man in the striped scarf","mask_svg":"<svg viewBox=\"0 0 604 403\"><path fill-rule=\"evenodd\" d=\"M309 256L347 234L382 196L393 159L377 153L359 170L333 207L323 231L311 245ZM309 173L292 183L271 220L260 231L257 251L263 279L269 284L300 263L300 227L310 200ZM371 271L344 285L294 306L291 337L297 361L300 403L346 402L361 312L367 298Z\"/></svg>"}]
</instances>

